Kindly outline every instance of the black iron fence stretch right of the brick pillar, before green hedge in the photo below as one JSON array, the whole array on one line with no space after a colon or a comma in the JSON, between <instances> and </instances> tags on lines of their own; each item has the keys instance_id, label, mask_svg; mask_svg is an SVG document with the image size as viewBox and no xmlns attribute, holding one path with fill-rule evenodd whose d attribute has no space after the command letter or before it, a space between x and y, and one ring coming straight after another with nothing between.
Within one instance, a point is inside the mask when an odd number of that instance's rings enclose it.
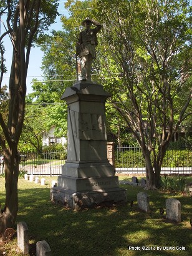
<instances>
[{"instance_id":1,"label":"black iron fence stretch right of the brick pillar, before green hedge","mask_svg":"<svg viewBox=\"0 0 192 256\"><path fill-rule=\"evenodd\" d=\"M115 152L116 171L145 172L145 160L142 149L137 145L117 147ZM192 148L170 147L166 151L162 172L183 172L192 174Z\"/></svg>"}]
</instances>

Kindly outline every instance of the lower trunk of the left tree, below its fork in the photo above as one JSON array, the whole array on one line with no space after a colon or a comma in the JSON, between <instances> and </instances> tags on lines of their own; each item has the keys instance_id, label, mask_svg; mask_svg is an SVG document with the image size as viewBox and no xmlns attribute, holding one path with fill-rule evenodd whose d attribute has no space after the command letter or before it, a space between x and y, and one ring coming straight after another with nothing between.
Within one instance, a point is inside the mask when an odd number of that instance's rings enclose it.
<instances>
[{"instance_id":1,"label":"lower trunk of the left tree, below its fork","mask_svg":"<svg viewBox=\"0 0 192 256\"><path fill-rule=\"evenodd\" d=\"M16 152L12 154L10 152ZM5 166L5 187L6 187L6 204L1 210L0 233L2 240L5 239L4 232L8 228L13 228L18 212L18 194L17 182L19 177L19 154L14 147L4 155Z\"/></svg>"}]
</instances>

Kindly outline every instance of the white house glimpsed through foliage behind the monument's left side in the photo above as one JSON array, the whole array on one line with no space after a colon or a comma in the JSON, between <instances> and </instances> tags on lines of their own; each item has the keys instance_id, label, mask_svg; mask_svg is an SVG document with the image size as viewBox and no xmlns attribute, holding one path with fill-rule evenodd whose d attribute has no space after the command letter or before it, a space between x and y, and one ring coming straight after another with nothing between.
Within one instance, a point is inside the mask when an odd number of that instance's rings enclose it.
<instances>
[{"instance_id":1,"label":"white house glimpsed through foliage behind the monument's left side","mask_svg":"<svg viewBox=\"0 0 192 256\"><path fill-rule=\"evenodd\" d=\"M67 140L65 137L55 137L55 126L50 127L49 131L47 132L44 130L42 132L42 146L46 145L53 145L53 144L62 144L64 145Z\"/></svg>"}]
</instances>

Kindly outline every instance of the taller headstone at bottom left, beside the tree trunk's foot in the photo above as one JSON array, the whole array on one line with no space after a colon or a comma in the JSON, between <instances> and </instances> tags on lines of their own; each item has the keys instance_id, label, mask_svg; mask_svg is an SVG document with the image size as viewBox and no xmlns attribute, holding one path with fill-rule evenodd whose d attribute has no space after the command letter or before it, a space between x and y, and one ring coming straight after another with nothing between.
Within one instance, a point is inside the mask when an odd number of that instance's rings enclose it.
<instances>
[{"instance_id":1,"label":"taller headstone at bottom left, beside the tree trunk's foot","mask_svg":"<svg viewBox=\"0 0 192 256\"><path fill-rule=\"evenodd\" d=\"M29 231L26 222L17 224L17 244L23 254L29 254Z\"/></svg>"}]
</instances>

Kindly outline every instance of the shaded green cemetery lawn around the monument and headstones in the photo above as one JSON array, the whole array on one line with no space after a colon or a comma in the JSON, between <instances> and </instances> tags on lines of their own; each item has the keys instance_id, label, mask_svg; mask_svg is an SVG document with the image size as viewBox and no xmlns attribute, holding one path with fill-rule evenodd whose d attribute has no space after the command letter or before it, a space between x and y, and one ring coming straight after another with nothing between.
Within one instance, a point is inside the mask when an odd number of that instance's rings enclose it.
<instances>
[{"instance_id":1,"label":"shaded green cemetery lawn around the monument and headstones","mask_svg":"<svg viewBox=\"0 0 192 256\"><path fill-rule=\"evenodd\" d=\"M36 242L40 240L48 242L53 256L192 255L191 196L120 185L127 189L128 202L125 205L78 212L50 202L51 180L55 179L46 177L46 186L19 179L17 222L24 221L28 226L30 255L35 255ZM191 181L191 177L189 179ZM150 195L150 213L138 209L138 192ZM0 178L2 207L4 194L4 178ZM165 220L165 214L160 214L160 207L165 209L165 200L170 197L181 202L180 224L169 223ZM6 255L22 255L16 251L16 244L15 237L4 247L0 245L0 255L4 251Z\"/></svg>"}]
</instances>

